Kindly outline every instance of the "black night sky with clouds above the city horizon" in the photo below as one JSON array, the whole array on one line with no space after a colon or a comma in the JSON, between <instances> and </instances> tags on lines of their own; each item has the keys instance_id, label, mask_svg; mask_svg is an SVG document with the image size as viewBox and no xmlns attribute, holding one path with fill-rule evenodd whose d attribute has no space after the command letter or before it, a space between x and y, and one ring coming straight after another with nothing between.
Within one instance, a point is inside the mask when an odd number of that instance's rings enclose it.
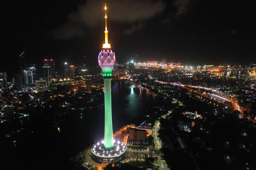
<instances>
[{"instance_id":1,"label":"black night sky with clouds above the city horizon","mask_svg":"<svg viewBox=\"0 0 256 170\"><path fill-rule=\"evenodd\" d=\"M57 65L69 60L96 66L104 42L104 3L109 43L121 63L162 58L185 64L255 62L256 10L252 2L15 2L8 15L15 30L15 54L5 58L1 71L8 71L23 50L27 63L55 58Z\"/></svg>"}]
</instances>

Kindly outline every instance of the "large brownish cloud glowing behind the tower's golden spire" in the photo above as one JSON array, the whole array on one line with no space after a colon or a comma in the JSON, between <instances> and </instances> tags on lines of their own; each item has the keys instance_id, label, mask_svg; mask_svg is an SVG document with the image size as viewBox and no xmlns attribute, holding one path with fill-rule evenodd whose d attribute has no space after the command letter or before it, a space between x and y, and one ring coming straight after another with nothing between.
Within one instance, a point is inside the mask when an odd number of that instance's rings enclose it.
<instances>
[{"instance_id":1,"label":"large brownish cloud glowing behind the tower's golden spire","mask_svg":"<svg viewBox=\"0 0 256 170\"><path fill-rule=\"evenodd\" d=\"M142 21L148 20L164 10L163 1L153 0L111 0L107 1L109 21L132 24L124 30L125 34L143 28ZM87 1L79 5L77 11L69 14L67 22L53 31L55 39L71 39L85 35L85 29L97 27L104 22L104 3L102 1ZM135 25L134 25L135 23Z\"/></svg>"}]
</instances>

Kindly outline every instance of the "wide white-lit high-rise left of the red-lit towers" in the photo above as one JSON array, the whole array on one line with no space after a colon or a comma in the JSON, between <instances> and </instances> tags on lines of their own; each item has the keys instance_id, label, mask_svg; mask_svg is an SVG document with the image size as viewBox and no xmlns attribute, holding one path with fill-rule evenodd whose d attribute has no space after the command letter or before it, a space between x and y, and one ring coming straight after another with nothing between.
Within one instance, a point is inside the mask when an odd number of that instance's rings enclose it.
<instances>
[{"instance_id":1,"label":"wide white-lit high-rise left of the red-lit towers","mask_svg":"<svg viewBox=\"0 0 256 170\"><path fill-rule=\"evenodd\" d=\"M37 74L35 64L26 64L25 68L21 70L23 85L31 85L35 83Z\"/></svg>"}]
</instances>

